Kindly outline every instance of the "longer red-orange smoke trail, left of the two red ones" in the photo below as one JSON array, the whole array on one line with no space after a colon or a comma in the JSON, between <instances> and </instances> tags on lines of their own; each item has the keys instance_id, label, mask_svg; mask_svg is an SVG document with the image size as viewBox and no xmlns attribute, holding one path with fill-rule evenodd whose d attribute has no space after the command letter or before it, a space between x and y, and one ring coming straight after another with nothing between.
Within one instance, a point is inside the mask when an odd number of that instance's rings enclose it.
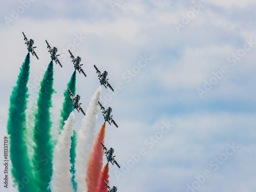
<instances>
[{"instance_id":1,"label":"longer red-orange smoke trail, left of the two red ones","mask_svg":"<svg viewBox=\"0 0 256 192\"><path fill-rule=\"evenodd\" d=\"M98 183L98 179L100 177L100 173L103 165L103 154L104 154L100 141L104 143L104 137L105 137L105 122L102 125L98 133L98 136L95 140L93 151L90 155L90 159L88 162L86 183L87 183L87 186L90 186L90 187L88 188L87 192L95 192L97 189L96 184Z\"/></svg>"}]
</instances>

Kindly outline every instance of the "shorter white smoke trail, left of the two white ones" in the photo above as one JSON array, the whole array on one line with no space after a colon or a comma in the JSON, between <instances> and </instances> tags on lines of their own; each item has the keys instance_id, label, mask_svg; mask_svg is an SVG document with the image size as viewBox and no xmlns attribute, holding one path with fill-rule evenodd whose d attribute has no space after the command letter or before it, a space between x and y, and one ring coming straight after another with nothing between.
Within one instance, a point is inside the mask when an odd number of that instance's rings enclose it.
<instances>
[{"instance_id":1,"label":"shorter white smoke trail, left of the two white ones","mask_svg":"<svg viewBox=\"0 0 256 192\"><path fill-rule=\"evenodd\" d=\"M71 183L72 174L70 173L70 148L71 137L74 130L75 113L71 112L61 135L58 138L58 143L55 146L53 156L53 175L51 179L51 189L53 192L73 192Z\"/></svg>"}]
</instances>

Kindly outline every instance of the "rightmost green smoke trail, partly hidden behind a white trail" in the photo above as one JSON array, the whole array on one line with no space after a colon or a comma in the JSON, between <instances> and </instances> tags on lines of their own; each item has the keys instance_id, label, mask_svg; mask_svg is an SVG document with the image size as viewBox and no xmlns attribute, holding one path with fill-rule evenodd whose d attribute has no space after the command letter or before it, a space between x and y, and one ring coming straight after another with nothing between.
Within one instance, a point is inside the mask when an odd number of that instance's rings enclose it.
<instances>
[{"instance_id":1,"label":"rightmost green smoke trail, partly hidden behind a white trail","mask_svg":"<svg viewBox=\"0 0 256 192\"><path fill-rule=\"evenodd\" d=\"M71 79L68 83L67 86L70 91L75 95L76 93L76 71L74 71L74 73L71 76ZM70 96L69 96L69 92L68 89L65 90L64 92L64 102L62 105L62 110L61 110L61 119L60 119L60 129L59 129L59 133L63 128L63 125L65 124L64 121L66 121L69 118L70 113L74 110L73 108L73 104L70 100ZM72 184L73 184L73 188L76 191L77 188L77 183L75 182L75 157L76 157L76 153L75 153L75 148L76 148L76 131L74 130L74 135L71 138L72 143L71 143L71 148L70 148L70 163L72 164L70 172L72 173Z\"/></svg>"}]
</instances>

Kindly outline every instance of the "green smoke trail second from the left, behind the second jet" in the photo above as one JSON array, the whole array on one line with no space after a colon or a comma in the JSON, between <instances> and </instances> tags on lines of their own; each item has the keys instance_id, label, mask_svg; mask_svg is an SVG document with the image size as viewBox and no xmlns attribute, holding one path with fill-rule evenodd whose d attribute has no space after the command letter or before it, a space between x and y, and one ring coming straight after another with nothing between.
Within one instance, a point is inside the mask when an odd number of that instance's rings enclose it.
<instances>
[{"instance_id":1,"label":"green smoke trail second from the left, behind the second jet","mask_svg":"<svg viewBox=\"0 0 256 192\"><path fill-rule=\"evenodd\" d=\"M40 84L39 98L37 100L37 113L35 114L34 129L34 157L36 168L35 180L40 192L47 191L52 175L52 150L50 108L52 106L53 90L53 62L51 61L44 78Z\"/></svg>"}]
</instances>

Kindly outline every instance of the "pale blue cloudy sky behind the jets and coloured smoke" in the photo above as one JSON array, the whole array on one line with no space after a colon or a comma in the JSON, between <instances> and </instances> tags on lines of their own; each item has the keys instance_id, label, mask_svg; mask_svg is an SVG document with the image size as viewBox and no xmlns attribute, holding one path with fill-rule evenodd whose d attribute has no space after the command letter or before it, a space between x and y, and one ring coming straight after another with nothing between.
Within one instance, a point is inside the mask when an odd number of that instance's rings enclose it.
<instances>
[{"instance_id":1,"label":"pale blue cloudy sky behind the jets and coloured smoke","mask_svg":"<svg viewBox=\"0 0 256 192\"><path fill-rule=\"evenodd\" d=\"M256 188L255 1L20 0L0 7L1 154L10 94L27 55L24 32L39 57L31 55L29 106L51 61L45 40L60 54L53 133L74 71L67 50L87 74L76 83L84 111L100 86L93 65L108 71L115 92L102 87L101 102L118 128L106 125L104 144L122 167L110 166L118 191ZM78 131L83 115L75 118ZM99 111L97 131L102 123Z\"/></svg>"}]
</instances>

